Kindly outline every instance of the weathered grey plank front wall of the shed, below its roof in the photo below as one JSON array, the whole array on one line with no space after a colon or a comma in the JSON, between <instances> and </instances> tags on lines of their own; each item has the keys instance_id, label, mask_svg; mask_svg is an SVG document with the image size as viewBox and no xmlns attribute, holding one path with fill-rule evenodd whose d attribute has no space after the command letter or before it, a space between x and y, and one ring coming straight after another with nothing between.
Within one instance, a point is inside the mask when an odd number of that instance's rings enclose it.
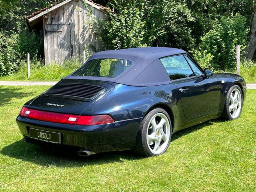
<instances>
[{"instance_id":1,"label":"weathered grey plank front wall of the shed, below its roof","mask_svg":"<svg viewBox=\"0 0 256 192\"><path fill-rule=\"evenodd\" d=\"M84 45L90 52L90 44L97 50L101 49L93 27L88 25L88 9L93 10L93 17L98 20L105 17L105 12L88 4L84 7L82 0L70 2L48 12L44 18L44 51L46 64L57 62L73 56L82 57ZM83 10L84 12L80 11Z\"/></svg>"}]
</instances>

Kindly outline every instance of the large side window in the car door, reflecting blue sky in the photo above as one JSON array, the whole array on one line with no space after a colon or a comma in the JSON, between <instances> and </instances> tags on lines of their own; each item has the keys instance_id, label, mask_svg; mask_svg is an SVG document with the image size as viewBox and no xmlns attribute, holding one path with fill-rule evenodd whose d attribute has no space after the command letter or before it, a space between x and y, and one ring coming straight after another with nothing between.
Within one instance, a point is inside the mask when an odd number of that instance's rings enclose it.
<instances>
[{"instance_id":1,"label":"large side window in the car door, reflecting blue sky","mask_svg":"<svg viewBox=\"0 0 256 192\"><path fill-rule=\"evenodd\" d=\"M160 61L171 80L194 76L183 55L162 58Z\"/></svg>"}]
</instances>

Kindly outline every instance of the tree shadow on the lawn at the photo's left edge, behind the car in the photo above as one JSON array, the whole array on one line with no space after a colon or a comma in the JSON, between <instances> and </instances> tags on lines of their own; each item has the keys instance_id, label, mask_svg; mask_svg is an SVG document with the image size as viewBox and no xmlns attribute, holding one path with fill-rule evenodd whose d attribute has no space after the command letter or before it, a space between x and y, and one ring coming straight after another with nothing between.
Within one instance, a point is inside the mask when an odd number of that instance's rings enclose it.
<instances>
[{"instance_id":1,"label":"tree shadow on the lawn at the photo's left edge, behind the car","mask_svg":"<svg viewBox=\"0 0 256 192\"><path fill-rule=\"evenodd\" d=\"M24 88L14 86L0 86L0 106L12 104L13 98L24 98L34 95L35 92L27 92Z\"/></svg>"}]
</instances>

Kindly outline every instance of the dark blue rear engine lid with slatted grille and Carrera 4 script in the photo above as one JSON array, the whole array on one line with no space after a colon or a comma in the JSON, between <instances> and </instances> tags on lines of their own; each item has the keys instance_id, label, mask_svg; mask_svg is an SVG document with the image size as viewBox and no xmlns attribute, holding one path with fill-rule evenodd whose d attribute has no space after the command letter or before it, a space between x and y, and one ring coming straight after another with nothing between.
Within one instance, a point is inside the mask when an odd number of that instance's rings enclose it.
<instances>
[{"instance_id":1,"label":"dark blue rear engine lid with slatted grille and Carrera 4 script","mask_svg":"<svg viewBox=\"0 0 256 192\"><path fill-rule=\"evenodd\" d=\"M103 99L116 84L92 80L61 80L25 106L37 110L81 114L99 99Z\"/></svg>"}]
</instances>

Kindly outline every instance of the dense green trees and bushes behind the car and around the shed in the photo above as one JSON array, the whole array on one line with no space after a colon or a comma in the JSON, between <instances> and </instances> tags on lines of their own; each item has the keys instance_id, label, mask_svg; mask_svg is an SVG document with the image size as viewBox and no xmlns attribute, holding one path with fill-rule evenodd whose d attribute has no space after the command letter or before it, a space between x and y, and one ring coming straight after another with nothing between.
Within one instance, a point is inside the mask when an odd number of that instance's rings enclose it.
<instances>
[{"instance_id":1,"label":"dense green trees and bushes behind the car and around the shed","mask_svg":"<svg viewBox=\"0 0 256 192\"><path fill-rule=\"evenodd\" d=\"M0 76L16 72L28 52L31 58L43 56L43 39L27 32L24 17L55 1L0 0ZM215 71L235 69L235 46L242 45L241 50L246 46L255 4L255 0L98 0L114 14L108 11L106 20L96 21L92 7L83 2L87 10L78 10L88 15L86 24L94 26L105 49L182 48L193 53L203 68ZM90 54L87 51L86 57Z\"/></svg>"}]
</instances>

